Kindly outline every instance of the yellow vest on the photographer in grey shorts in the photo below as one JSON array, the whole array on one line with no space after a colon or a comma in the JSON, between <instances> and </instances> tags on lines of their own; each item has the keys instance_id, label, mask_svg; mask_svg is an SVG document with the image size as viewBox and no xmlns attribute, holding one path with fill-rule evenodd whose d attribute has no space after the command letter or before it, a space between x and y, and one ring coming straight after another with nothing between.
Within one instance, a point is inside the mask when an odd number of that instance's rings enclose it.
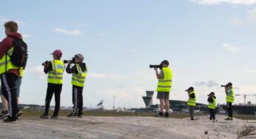
<instances>
[{"instance_id":1,"label":"yellow vest on the photographer in grey shorts","mask_svg":"<svg viewBox=\"0 0 256 139\"><path fill-rule=\"evenodd\" d=\"M163 67L164 79L158 79L157 92L170 92L172 88L172 69Z\"/></svg>"}]
</instances>

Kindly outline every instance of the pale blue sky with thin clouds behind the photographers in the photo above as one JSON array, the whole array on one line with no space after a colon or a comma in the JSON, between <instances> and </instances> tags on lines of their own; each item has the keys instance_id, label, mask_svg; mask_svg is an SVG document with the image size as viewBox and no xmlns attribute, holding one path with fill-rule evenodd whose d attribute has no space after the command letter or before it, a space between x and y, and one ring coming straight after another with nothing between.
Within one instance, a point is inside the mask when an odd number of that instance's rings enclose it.
<instances>
[{"instance_id":1,"label":"pale blue sky with thin clouds behind the photographers","mask_svg":"<svg viewBox=\"0 0 256 139\"><path fill-rule=\"evenodd\" d=\"M155 90L149 64L168 60L173 70L171 100L186 101L194 87L199 103L231 81L235 94L256 95L256 0L55 0L1 1L4 23L17 21L29 47L21 104L43 105L47 75L41 63L60 49L62 60L81 53L88 66L84 106L104 100L108 109L144 107L142 95ZM256 104L256 96L246 101ZM235 97L235 104L243 96ZM156 93L153 104L159 104ZM54 98L51 103L54 105ZM64 73L61 106L72 106L71 75Z\"/></svg>"}]
</instances>

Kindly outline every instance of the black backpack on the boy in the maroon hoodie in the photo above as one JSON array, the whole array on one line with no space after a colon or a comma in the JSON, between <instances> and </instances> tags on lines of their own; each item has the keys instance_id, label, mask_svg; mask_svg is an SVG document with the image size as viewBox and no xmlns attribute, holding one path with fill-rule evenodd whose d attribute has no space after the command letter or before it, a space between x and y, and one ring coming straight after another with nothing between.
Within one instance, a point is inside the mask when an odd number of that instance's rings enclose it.
<instances>
[{"instance_id":1,"label":"black backpack on the boy in the maroon hoodie","mask_svg":"<svg viewBox=\"0 0 256 139\"><path fill-rule=\"evenodd\" d=\"M9 55L8 52L6 53ZM13 38L13 54L9 55L13 65L25 69L27 55L27 44L20 38Z\"/></svg>"}]
</instances>

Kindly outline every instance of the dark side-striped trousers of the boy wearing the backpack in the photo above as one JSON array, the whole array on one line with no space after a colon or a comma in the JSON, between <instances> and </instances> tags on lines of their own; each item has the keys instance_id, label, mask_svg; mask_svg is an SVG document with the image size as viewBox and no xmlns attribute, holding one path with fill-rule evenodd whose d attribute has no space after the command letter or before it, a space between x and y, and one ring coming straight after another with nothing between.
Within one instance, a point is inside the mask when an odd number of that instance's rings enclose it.
<instances>
[{"instance_id":1,"label":"dark side-striped trousers of the boy wearing the backpack","mask_svg":"<svg viewBox=\"0 0 256 139\"><path fill-rule=\"evenodd\" d=\"M1 74L1 92L8 101L10 118L16 120L16 113L19 111L17 104L16 85L17 76L13 73Z\"/></svg>"}]
</instances>

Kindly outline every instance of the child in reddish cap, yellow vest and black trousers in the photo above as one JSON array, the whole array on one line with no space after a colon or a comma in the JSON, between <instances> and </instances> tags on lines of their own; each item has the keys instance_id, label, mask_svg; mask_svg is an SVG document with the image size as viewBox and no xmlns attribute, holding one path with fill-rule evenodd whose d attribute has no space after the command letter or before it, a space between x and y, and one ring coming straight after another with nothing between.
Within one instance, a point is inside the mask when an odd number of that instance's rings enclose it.
<instances>
[{"instance_id":1,"label":"child in reddish cap, yellow vest and black trousers","mask_svg":"<svg viewBox=\"0 0 256 139\"><path fill-rule=\"evenodd\" d=\"M48 111L50 107L50 101L55 96L55 110L51 118L58 118L58 111L61 104L61 89L63 84L63 72L64 63L61 61L62 52L61 50L55 50L53 53L53 61L45 61L43 63L45 74L48 73L48 86L47 95L45 98L45 109L43 115L40 118L48 118Z\"/></svg>"}]
</instances>

